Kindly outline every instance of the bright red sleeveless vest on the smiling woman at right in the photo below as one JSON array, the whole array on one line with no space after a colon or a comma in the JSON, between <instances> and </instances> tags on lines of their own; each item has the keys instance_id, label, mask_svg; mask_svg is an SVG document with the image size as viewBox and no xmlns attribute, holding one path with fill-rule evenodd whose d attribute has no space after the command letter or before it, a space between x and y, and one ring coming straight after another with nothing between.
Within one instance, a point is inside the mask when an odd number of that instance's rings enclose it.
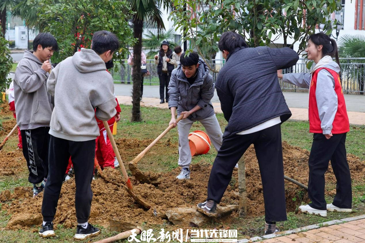
<instances>
[{"instance_id":1,"label":"bright red sleeveless vest on the smiling woman at right","mask_svg":"<svg viewBox=\"0 0 365 243\"><path fill-rule=\"evenodd\" d=\"M316 100L316 87L317 87L317 76L320 70L326 69L330 72L335 80L335 92L338 98L337 112L335 119L332 123L332 134L341 134L350 131L349 117L347 117L345 98L343 97L341 80L334 70L322 67L312 74L311 86L309 88L309 132L322 133L320 126L321 121L319 119L317 100Z\"/></svg>"}]
</instances>

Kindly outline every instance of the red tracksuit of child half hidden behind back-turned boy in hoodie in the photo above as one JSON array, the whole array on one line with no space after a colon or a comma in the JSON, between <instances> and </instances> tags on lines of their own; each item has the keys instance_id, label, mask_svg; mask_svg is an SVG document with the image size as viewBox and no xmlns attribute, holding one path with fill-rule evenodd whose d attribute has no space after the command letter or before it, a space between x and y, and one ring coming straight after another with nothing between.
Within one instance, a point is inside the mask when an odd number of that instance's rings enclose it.
<instances>
[{"instance_id":1,"label":"red tracksuit of child half hidden behind back-turned boy in hoodie","mask_svg":"<svg viewBox=\"0 0 365 243\"><path fill-rule=\"evenodd\" d=\"M118 99L115 98L115 100L117 103L117 106L115 107L116 115L118 115L121 110L120 110ZM95 119L96 119L97 125L99 126L99 129L100 129L100 136L98 136L95 141L96 142L95 156L96 156L97 162L99 163L101 169L104 169L105 167L112 167L114 169L115 153L114 153L113 147L110 143L107 131L105 130L103 121L97 119L96 116L95 116ZM113 131L114 122L115 122L114 117L112 117L110 120L108 120L108 124L109 124L111 131ZM71 165L72 165L72 161L70 158L69 164L66 169L66 173L69 172Z\"/></svg>"}]
</instances>

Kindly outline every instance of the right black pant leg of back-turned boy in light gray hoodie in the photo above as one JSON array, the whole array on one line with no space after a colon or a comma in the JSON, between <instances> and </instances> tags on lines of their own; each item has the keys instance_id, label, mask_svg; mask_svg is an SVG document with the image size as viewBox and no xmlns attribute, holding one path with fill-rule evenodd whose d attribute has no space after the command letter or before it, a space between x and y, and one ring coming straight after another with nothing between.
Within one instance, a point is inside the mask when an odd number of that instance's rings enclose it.
<instances>
[{"instance_id":1,"label":"right black pant leg of back-turned boy in light gray hoodie","mask_svg":"<svg viewBox=\"0 0 365 243\"><path fill-rule=\"evenodd\" d=\"M95 140L70 142L70 154L75 171L77 223L82 224L87 222L90 216L93 196L91 181L94 172Z\"/></svg>"}]
</instances>

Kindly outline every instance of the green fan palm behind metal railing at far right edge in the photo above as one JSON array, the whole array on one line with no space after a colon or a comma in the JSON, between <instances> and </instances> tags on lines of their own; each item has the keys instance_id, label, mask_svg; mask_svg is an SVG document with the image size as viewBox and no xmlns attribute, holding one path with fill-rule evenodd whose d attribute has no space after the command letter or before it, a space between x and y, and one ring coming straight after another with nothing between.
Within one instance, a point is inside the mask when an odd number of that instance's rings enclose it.
<instances>
[{"instance_id":1,"label":"green fan palm behind metal railing at far right edge","mask_svg":"<svg viewBox=\"0 0 365 243\"><path fill-rule=\"evenodd\" d=\"M364 35L344 35L338 40L339 56L347 58L365 57L365 36ZM361 63L345 65L345 75L347 80L354 80L358 84L360 94L364 94L365 69L364 60L341 60L346 63Z\"/></svg>"}]
</instances>

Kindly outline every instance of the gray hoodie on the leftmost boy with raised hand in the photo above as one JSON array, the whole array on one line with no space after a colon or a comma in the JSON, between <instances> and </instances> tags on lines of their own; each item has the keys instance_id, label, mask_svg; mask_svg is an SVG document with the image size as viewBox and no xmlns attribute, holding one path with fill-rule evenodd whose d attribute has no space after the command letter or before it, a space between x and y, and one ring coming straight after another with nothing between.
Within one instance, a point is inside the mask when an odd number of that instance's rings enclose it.
<instances>
[{"instance_id":1,"label":"gray hoodie on the leftmost boy with raised hand","mask_svg":"<svg viewBox=\"0 0 365 243\"><path fill-rule=\"evenodd\" d=\"M53 104L47 93L49 74L31 50L25 50L14 75L16 122L20 130L49 127Z\"/></svg>"}]
</instances>

